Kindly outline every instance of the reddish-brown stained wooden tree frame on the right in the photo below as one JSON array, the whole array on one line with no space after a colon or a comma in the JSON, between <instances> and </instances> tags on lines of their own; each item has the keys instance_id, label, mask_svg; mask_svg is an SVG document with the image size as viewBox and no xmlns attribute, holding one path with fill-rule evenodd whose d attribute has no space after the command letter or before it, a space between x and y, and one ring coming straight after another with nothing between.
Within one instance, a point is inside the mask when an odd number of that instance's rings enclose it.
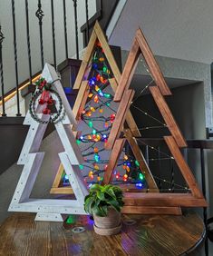
<instances>
[{"instance_id":1,"label":"reddish-brown stained wooden tree frame on the right","mask_svg":"<svg viewBox=\"0 0 213 256\"><path fill-rule=\"evenodd\" d=\"M189 169L189 165L185 162L179 150L179 148L186 147L187 143L179 131L179 127L164 99L164 95L171 94L169 87L166 84L160 71L160 67L150 50L150 46L140 29L137 30L134 37L133 44L131 45L131 51L128 55L119 85L114 95L113 100L115 102L119 102L120 105L114 123L111 127L111 133L109 135L106 148L112 150L111 155L115 160L119 159L121 151L118 150L118 145L123 142L123 139L120 138L121 130L123 123L126 120L127 113L130 111L131 101L134 95L134 91L129 89L129 87L131 84L131 78L140 58L140 54L144 57L150 70L150 74L156 84L155 86L149 86L150 94L157 104L171 134L169 136L164 136L164 140L168 145L169 151L174 160L179 166L179 170L182 173L183 178L189 186L190 193L125 192L125 205L122 211L125 213L169 213L168 209L170 207L171 212L173 209L173 213L179 214L181 212L179 207L206 207L207 202L198 188L198 184ZM125 133L127 139L129 134L130 132L127 130ZM113 162L113 164L116 164L116 162ZM104 175L103 183L111 182L111 175L112 170L107 170ZM154 208L156 208L156 211L153 211Z\"/></svg>"}]
</instances>

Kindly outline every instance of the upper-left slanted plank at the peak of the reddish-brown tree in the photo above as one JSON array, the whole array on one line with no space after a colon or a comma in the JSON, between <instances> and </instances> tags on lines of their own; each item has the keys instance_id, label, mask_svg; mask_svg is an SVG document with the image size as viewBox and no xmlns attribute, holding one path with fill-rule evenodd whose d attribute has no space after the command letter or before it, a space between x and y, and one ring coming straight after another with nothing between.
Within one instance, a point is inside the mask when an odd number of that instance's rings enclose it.
<instances>
[{"instance_id":1,"label":"upper-left slanted plank at the peak of the reddish-brown tree","mask_svg":"<svg viewBox=\"0 0 213 256\"><path fill-rule=\"evenodd\" d=\"M131 51L128 54L128 58L126 61L126 64L123 68L121 79L118 80L119 87L116 90L116 93L114 94L114 102L120 102L122 94L124 94L124 91L127 90L130 87L131 79L134 74L135 68L138 64L140 51L139 51L139 44L134 38L133 43L131 45Z\"/></svg>"}]
</instances>

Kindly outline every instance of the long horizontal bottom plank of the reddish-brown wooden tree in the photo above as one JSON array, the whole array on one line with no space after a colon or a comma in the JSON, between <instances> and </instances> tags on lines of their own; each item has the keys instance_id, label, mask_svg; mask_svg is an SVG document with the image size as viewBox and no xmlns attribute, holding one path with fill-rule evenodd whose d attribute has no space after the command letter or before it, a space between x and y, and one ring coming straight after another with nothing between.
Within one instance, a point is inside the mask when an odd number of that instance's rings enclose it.
<instances>
[{"instance_id":1,"label":"long horizontal bottom plank of the reddish-brown wooden tree","mask_svg":"<svg viewBox=\"0 0 213 256\"><path fill-rule=\"evenodd\" d=\"M124 193L125 205L154 207L207 207L204 198L195 198L191 193Z\"/></svg>"}]
</instances>

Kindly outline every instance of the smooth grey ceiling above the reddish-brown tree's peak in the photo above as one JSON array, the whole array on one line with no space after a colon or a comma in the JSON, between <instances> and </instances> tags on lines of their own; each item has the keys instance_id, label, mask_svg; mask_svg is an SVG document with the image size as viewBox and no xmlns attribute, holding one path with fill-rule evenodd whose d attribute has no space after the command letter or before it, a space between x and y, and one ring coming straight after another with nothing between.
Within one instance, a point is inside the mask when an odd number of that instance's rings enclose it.
<instances>
[{"instance_id":1,"label":"smooth grey ceiling above the reddish-brown tree's peak","mask_svg":"<svg viewBox=\"0 0 213 256\"><path fill-rule=\"evenodd\" d=\"M212 0L127 0L110 43L129 50L139 26L154 54L213 62Z\"/></svg>"}]
</instances>

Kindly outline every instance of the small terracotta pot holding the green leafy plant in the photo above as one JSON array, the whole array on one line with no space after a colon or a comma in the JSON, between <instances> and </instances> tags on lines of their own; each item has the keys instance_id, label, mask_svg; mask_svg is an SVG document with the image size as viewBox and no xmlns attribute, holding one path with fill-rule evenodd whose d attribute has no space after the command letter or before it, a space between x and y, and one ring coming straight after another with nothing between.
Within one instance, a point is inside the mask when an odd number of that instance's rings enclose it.
<instances>
[{"instance_id":1,"label":"small terracotta pot holding the green leafy plant","mask_svg":"<svg viewBox=\"0 0 213 256\"><path fill-rule=\"evenodd\" d=\"M121 231L121 212L110 208L106 217L93 215L94 231L101 235L117 234Z\"/></svg>"}]
</instances>

